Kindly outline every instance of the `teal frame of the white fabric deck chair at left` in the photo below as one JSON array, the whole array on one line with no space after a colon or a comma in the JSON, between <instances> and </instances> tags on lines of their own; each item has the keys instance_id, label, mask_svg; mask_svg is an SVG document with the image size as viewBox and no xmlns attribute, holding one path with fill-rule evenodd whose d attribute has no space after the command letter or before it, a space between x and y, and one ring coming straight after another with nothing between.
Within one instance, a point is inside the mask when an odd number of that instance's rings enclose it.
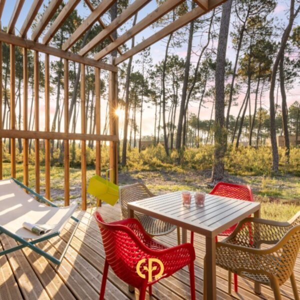
<instances>
[{"instance_id":1,"label":"teal frame of the white fabric deck chair at left","mask_svg":"<svg viewBox=\"0 0 300 300\"><path fill-rule=\"evenodd\" d=\"M24 185L23 183L21 183L20 181L16 180L15 178L11 178L16 184L18 184L20 187L24 188L26 191L28 191L29 193L31 193L32 195L36 196L36 200L37 201L40 201L40 202L44 202L52 207L57 207L55 204L53 204L52 202L50 202L49 200L47 200L45 197L43 197L42 195L38 194L37 192L35 192L34 190L32 190L31 188L29 188L28 186ZM69 240L67 241L66 243L66 246L63 250L63 252L61 253L60 257L59 258L56 258L54 257L53 255L50 255L49 253L43 251L42 249L40 249L39 247L35 246L36 243L40 242L40 241L44 241L44 240L47 240L47 239L50 239L54 236L57 236L60 234L60 231L54 231L54 232L51 232L47 235L43 235L41 236L40 238L36 238L32 241L27 241L26 239L10 232L9 230L6 230L5 228L3 228L3 226L0 225L0 234L2 233L5 233L6 235L10 236L11 238L13 238L14 240L16 240L17 242L19 242L20 244L17 245L17 246L14 246L12 248L9 248L9 249L6 249L6 250L3 250L3 251L0 251L0 256L2 255L5 255L5 254L8 254L8 253L11 253L11 252L14 252L16 250L19 250L19 249L22 249L22 248L25 248L25 247L28 247L30 248L31 250L35 251L36 253L44 256L45 258L47 258L48 260L50 260L51 262L55 263L55 264L60 264L65 253L66 253L66 250L68 248L68 246L70 245L71 243L71 240L75 234L75 231L79 225L79 220L77 218L75 218L74 216L71 216L70 217L71 219L73 219L75 222L76 222L76 225L75 225L75 228L69 238Z\"/></svg>"}]
</instances>

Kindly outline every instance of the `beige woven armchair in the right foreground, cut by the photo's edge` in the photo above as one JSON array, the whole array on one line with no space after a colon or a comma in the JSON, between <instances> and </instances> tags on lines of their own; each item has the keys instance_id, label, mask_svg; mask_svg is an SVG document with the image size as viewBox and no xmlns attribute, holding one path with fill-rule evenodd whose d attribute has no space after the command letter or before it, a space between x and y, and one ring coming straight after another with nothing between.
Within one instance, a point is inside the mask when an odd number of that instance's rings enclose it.
<instances>
[{"instance_id":1,"label":"beige woven armchair in the right foreground, cut by the photo's edge","mask_svg":"<svg viewBox=\"0 0 300 300\"><path fill-rule=\"evenodd\" d=\"M262 244L272 246L258 249ZM235 272L269 285L275 300L281 299L280 286L290 278L294 298L299 300L293 273L299 248L300 211L286 222L248 217L227 238L216 243L216 264L229 271L229 294L231 272Z\"/></svg>"}]
</instances>

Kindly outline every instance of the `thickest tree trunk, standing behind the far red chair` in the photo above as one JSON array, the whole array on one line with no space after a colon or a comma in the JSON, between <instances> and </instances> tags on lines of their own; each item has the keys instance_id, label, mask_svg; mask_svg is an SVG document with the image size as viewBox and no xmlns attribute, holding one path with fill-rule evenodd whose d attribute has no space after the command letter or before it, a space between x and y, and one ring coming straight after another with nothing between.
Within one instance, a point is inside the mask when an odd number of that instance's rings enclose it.
<instances>
[{"instance_id":1,"label":"thickest tree trunk, standing behind the far red chair","mask_svg":"<svg viewBox=\"0 0 300 300\"><path fill-rule=\"evenodd\" d=\"M214 155L211 180L219 181L224 176L224 155L227 134L225 130L225 60L229 32L232 0L222 7L221 24L215 66L215 109L214 109Z\"/></svg>"}]
</instances>

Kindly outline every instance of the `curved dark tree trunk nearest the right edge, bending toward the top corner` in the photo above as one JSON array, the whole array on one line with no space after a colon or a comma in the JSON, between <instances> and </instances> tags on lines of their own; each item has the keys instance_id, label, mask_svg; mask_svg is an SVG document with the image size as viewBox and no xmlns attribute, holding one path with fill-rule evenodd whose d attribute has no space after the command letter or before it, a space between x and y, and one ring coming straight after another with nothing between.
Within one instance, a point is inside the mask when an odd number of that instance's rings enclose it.
<instances>
[{"instance_id":1,"label":"curved dark tree trunk nearest the right edge, bending toward the top corner","mask_svg":"<svg viewBox=\"0 0 300 300\"><path fill-rule=\"evenodd\" d=\"M269 101L270 101L270 140L271 140L271 146L272 146L272 170L274 172L278 171L279 167L279 154L278 154L278 145L276 140L276 127L275 127L275 103L274 103L274 88L275 88L275 82L276 82L276 74L278 65L280 62L280 58L282 57L282 54L284 53L284 49L286 47L286 42L289 37L294 19L296 15L298 14L300 10L300 5L297 7L297 9L294 11L294 4L295 0L290 0L290 7L289 7L289 19L288 24L286 28L284 29L284 32L282 34L281 43L279 50L277 52L272 72L271 72L271 82L270 82L270 93L269 93Z\"/></svg>"}]
</instances>

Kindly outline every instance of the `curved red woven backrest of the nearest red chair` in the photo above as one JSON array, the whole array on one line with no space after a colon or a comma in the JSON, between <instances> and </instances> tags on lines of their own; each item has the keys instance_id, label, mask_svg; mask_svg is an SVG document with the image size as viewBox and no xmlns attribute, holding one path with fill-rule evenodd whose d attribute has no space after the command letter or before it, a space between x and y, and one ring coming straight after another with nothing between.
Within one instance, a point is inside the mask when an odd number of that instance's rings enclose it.
<instances>
[{"instance_id":1,"label":"curved red woven backrest of the nearest red chair","mask_svg":"<svg viewBox=\"0 0 300 300\"><path fill-rule=\"evenodd\" d=\"M120 224L128 222L126 219L105 223L99 212L95 212L94 216L102 235L109 266L126 283L135 287L141 286L144 279L137 274L136 265L141 258L153 257L153 255L147 253L145 246L140 241L147 237L142 232L138 233L136 223L130 223L129 226ZM132 230L129 228L130 226Z\"/></svg>"}]
</instances>

